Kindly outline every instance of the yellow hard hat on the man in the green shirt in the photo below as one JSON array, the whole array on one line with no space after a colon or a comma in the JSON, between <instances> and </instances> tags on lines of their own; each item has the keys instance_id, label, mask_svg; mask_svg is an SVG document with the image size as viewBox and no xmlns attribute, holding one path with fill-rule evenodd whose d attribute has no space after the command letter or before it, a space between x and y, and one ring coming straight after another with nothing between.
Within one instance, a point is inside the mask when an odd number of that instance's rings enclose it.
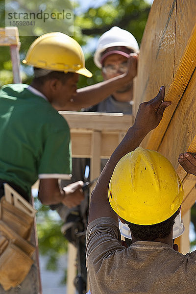
<instances>
[{"instance_id":1,"label":"yellow hard hat on the man in the green shirt","mask_svg":"<svg viewBox=\"0 0 196 294\"><path fill-rule=\"evenodd\" d=\"M92 76L85 68L80 45L60 32L47 33L37 38L29 47L23 63L51 71Z\"/></svg>"}]
</instances>

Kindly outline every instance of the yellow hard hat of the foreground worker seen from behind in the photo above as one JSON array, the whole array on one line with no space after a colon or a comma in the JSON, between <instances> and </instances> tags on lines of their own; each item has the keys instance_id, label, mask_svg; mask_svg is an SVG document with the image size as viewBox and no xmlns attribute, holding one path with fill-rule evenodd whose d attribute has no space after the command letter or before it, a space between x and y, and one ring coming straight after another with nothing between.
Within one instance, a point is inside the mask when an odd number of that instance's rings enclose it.
<instances>
[{"instance_id":1,"label":"yellow hard hat of the foreground worker seen from behind","mask_svg":"<svg viewBox=\"0 0 196 294\"><path fill-rule=\"evenodd\" d=\"M160 153L138 147L118 162L108 197L125 221L150 225L169 219L183 199L182 182Z\"/></svg>"}]
</instances>

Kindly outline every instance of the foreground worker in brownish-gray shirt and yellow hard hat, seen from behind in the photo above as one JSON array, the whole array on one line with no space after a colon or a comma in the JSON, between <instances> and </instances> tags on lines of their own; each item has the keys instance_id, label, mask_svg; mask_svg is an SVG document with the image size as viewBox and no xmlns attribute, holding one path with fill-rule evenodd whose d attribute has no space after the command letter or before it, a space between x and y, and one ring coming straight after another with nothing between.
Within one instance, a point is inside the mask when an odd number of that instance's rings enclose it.
<instances>
[{"instance_id":1,"label":"foreground worker in brownish-gray shirt and yellow hard hat, seen from behind","mask_svg":"<svg viewBox=\"0 0 196 294\"><path fill-rule=\"evenodd\" d=\"M140 105L134 125L92 192L86 245L92 294L195 291L196 253L176 252L172 240L182 183L167 158L139 147L170 104L164 101L161 87L154 99ZM181 154L178 161L196 174L196 158L191 154ZM118 219L130 228L128 248L121 244Z\"/></svg>"}]
</instances>

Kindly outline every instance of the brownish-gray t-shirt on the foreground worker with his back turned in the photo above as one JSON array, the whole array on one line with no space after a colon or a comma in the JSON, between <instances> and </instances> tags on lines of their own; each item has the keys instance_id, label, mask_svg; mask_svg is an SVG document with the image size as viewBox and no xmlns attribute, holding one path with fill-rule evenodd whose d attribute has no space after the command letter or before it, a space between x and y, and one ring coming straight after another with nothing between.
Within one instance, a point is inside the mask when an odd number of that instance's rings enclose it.
<instances>
[{"instance_id":1,"label":"brownish-gray t-shirt on the foreground worker with his back turned","mask_svg":"<svg viewBox=\"0 0 196 294\"><path fill-rule=\"evenodd\" d=\"M87 227L91 294L196 293L196 251L183 255L159 242L121 245L118 223L99 218Z\"/></svg>"}]
</instances>

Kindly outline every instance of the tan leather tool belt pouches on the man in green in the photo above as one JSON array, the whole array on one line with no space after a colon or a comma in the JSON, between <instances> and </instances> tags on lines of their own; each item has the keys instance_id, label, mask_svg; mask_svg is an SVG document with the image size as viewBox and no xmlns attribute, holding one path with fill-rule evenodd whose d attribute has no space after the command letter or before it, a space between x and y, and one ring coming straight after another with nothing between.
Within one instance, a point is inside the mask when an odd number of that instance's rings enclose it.
<instances>
[{"instance_id":1,"label":"tan leather tool belt pouches on the man in green","mask_svg":"<svg viewBox=\"0 0 196 294\"><path fill-rule=\"evenodd\" d=\"M0 186L0 195L0 284L7 291L25 279L33 264L36 210L7 183Z\"/></svg>"}]
</instances>

